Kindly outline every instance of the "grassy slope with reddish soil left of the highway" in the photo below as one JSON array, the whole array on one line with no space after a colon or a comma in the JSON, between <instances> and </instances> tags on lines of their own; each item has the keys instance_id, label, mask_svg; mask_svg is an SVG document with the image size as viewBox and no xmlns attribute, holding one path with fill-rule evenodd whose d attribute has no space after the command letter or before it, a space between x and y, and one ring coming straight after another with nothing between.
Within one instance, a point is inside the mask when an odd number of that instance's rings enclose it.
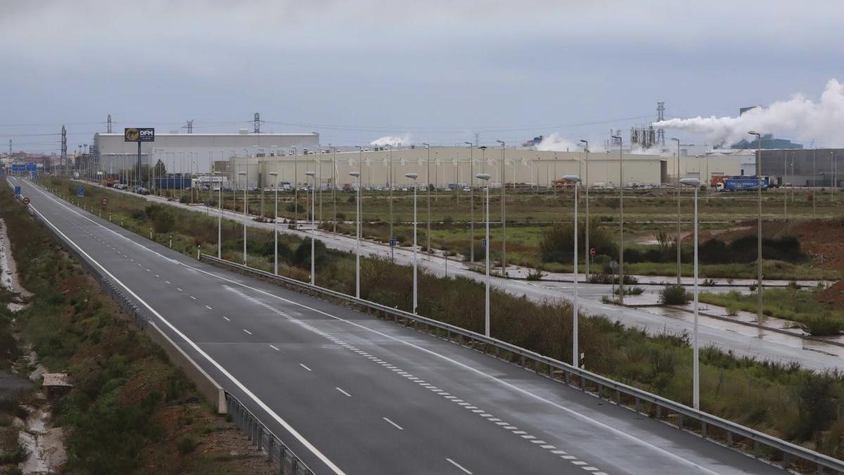
<instances>
[{"instance_id":1,"label":"grassy slope with reddish soil left of the highway","mask_svg":"<svg viewBox=\"0 0 844 475\"><path fill-rule=\"evenodd\" d=\"M270 472L8 188L0 190L0 217L21 281L35 294L17 325L41 363L73 380L52 401L56 425L66 430L68 471Z\"/></svg>"}]
</instances>

